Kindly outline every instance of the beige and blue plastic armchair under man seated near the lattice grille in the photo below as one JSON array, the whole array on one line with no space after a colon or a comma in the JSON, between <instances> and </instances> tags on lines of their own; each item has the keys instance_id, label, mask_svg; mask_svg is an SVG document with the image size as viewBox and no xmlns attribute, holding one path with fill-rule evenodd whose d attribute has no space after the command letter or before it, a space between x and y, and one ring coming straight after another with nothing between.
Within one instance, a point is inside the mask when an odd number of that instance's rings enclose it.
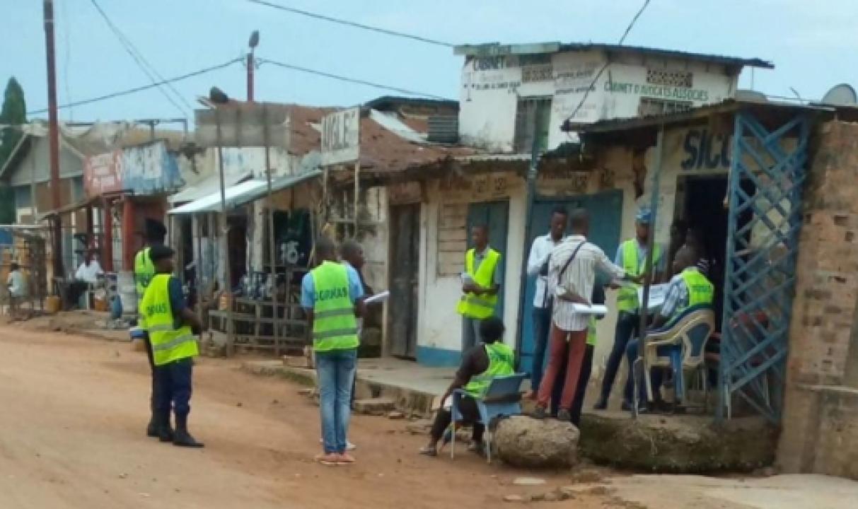
<instances>
[{"instance_id":1,"label":"beige and blue plastic armchair under man seated near the lattice grille","mask_svg":"<svg viewBox=\"0 0 858 509\"><path fill-rule=\"evenodd\" d=\"M644 338L644 381L647 399L653 400L651 368L670 368L674 374L674 393L682 400L685 396L685 369L696 369L703 364L706 342L715 331L715 314L708 304L698 304L683 311L668 325L647 332ZM638 359L637 362L640 362ZM637 370L633 370L636 373ZM637 399L637 376L634 398ZM637 404L636 404L637 407Z\"/></svg>"}]
</instances>

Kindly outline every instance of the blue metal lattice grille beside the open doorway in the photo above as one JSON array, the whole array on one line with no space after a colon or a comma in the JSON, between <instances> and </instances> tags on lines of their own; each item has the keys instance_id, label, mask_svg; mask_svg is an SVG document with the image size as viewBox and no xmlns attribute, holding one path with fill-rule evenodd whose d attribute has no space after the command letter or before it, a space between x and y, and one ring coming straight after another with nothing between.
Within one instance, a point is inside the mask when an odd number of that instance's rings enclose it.
<instances>
[{"instance_id":1,"label":"blue metal lattice grille beside the open doorway","mask_svg":"<svg viewBox=\"0 0 858 509\"><path fill-rule=\"evenodd\" d=\"M773 130L750 112L735 117L719 418L740 398L780 420L808 129L803 114Z\"/></svg>"}]
</instances>

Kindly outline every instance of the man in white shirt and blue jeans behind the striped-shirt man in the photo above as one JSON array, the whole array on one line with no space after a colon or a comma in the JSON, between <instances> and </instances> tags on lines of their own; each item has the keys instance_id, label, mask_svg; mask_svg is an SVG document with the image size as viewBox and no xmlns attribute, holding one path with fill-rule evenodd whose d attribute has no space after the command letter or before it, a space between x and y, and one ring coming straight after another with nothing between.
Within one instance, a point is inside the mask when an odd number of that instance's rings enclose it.
<instances>
[{"instance_id":1,"label":"man in white shirt and blue jeans behind the striped-shirt man","mask_svg":"<svg viewBox=\"0 0 858 509\"><path fill-rule=\"evenodd\" d=\"M530 398L539 392L542 380L542 368L545 365L548 331L551 330L551 303L553 299L547 293L548 259L551 252L563 240L569 213L565 207L557 207L551 214L550 229L546 235L536 237L530 246L528 256L528 276L536 277L533 310L534 359L530 368Z\"/></svg>"}]
</instances>

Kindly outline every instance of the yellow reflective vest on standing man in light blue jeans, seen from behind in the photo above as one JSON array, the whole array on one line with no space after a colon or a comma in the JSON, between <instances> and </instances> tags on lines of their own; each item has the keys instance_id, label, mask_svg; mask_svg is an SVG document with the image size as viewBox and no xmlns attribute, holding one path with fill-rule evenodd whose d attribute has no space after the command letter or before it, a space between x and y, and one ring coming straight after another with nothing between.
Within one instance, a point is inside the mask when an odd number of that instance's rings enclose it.
<instances>
[{"instance_id":1,"label":"yellow reflective vest on standing man in light blue jeans, seen from behind","mask_svg":"<svg viewBox=\"0 0 858 509\"><path fill-rule=\"evenodd\" d=\"M325 261L310 271L313 278L313 350L358 347L358 320L348 291L346 266Z\"/></svg>"}]
</instances>

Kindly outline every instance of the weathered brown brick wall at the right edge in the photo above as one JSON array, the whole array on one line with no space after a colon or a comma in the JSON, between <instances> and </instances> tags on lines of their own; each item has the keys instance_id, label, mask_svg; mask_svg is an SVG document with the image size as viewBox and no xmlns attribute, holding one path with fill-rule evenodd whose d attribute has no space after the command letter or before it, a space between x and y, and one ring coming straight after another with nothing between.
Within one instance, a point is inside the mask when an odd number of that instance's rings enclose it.
<instances>
[{"instance_id":1,"label":"weathered brown brick wall at the right edge","mask_svg":"<svg viewBox=\"0 0 858 509\"><path fill-rule=\"evenodd\" d=\"M777 463L858 479L858 123L816 136Z\"/></svg>"}]
</instances>

